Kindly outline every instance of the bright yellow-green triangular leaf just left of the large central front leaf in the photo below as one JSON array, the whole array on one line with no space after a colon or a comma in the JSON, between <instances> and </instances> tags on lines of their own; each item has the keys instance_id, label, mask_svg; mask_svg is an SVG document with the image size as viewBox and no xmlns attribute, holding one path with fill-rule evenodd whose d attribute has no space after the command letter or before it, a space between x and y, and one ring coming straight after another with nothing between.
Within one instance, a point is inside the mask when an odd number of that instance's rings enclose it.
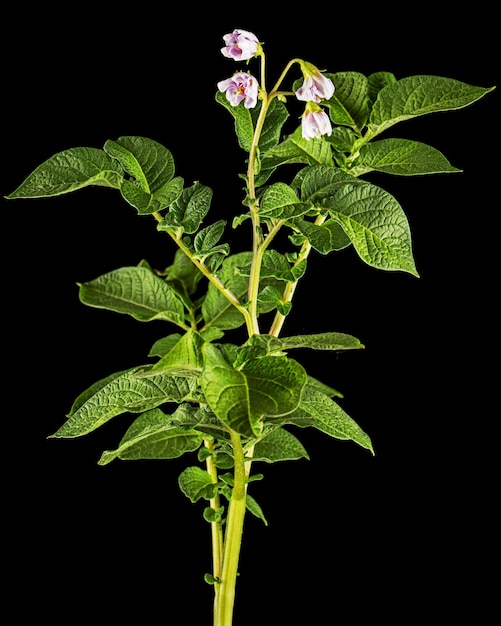
<instances>
[{"instance_id":1,"label":"bright yellow-green triangular leaf just left of the large central front leaf","mask_svg":"<svg viewBox=\"0 0 501 626\"><path fill-rule=\"evenodd\" d=\"M169 373L173 376L198 377L203 366L203 344L204 340L199 333L187 330L165 356L144 372L144 376Z\"/></svg>"}]
</instances>

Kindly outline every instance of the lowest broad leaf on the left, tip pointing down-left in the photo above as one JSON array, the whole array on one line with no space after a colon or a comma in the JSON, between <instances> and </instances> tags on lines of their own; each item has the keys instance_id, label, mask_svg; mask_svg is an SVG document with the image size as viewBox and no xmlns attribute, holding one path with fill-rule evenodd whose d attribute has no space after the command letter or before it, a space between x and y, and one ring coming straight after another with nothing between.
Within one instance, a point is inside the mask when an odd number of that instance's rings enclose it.
<instances>
[{"instance_id":1,"label":"lowest broad leaf on the left, tip pointing down-left","mask_svg":"<svg viewBox=\"0 0 501 626\"><path fill-rule=\"evenodd\" d=\"M177 411L182 411L184 405ZM196 430L173 425L173 416L160 409L142 413L129 427L116 450L106 450L98 465L107 465L114 459L174 459L185 452L197 450L203 436Z\"/></svg>"}]
</instances>

